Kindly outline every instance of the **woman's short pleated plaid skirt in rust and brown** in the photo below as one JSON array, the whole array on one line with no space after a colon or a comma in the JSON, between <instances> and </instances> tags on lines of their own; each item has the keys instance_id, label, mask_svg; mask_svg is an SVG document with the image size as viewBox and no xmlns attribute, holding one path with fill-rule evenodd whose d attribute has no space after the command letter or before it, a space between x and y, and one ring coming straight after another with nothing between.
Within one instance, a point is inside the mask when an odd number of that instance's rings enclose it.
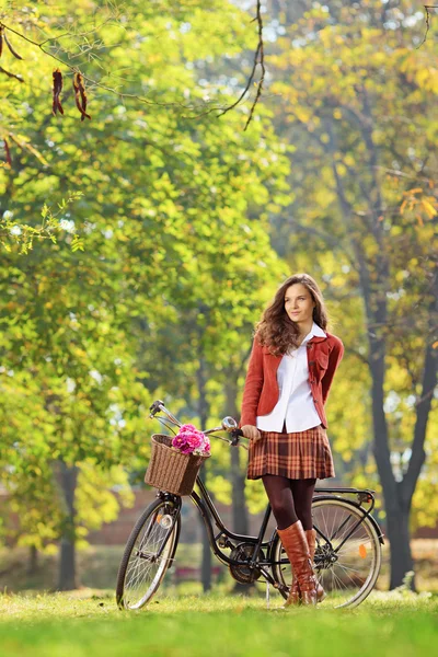
<instances>
[{"instance_id":1,"label":"woman's short pleated plaid skirt in rust and brown","mask_svg":"<svg viewBox=\"0 0 438 657\"><path fill-rule=\"evenodd\" d=\"M335 476L332 450L322 425L291 434L261 431L261 436L250 442L247 479L256 480L264 474L288 479Z\"/></svg>"}]
</instances>

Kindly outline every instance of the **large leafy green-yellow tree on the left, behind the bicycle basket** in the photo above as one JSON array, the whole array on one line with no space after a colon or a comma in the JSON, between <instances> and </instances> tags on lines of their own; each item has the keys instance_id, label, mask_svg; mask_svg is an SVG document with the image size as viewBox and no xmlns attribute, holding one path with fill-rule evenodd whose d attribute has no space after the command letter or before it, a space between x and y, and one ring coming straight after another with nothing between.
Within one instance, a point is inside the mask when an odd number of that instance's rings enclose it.
<instances>
[{"instance_id":1,"label":"large leafy green-yellow tree on the left, behind the bicycle basket","mask_svg":"<svg viewBox=\"0 0 438 657\"><path fill-rule=\"evenodd\" d=\"M65 5L57 8L66 11ZM82 3L76 10L82 11ZM240 44L228 28L222 41L207 38L203 15L196 12L193 34L184 39L188 61L198 62L211 49L237 51ZM83 15L74 18L81 24ZM193 68L181 60L183 42L178 37L175 45L163 18L152 18L136 26L134 37L129 30L122 35L120 47L110 54L113 67L131 65L122 46L138 42L151 66L145 71L141 58L131 66L132 85L150 85L153 79L159 95L169 91L172 79L175 95L198 96ZM178 16L174 27L182 20ZM148 42L153 31L162 30L169 38L157 54ZM41 53L28 46L26 57L49 77ZM2 82L8 93L13 82ZM44 89L31 91L20 84L13 91L16 127L32 148L15 151L12 166L1 171L2 211L13 214L18 223L21 217L32 217L33 224L48 194L62 198L70 189L81 193L71 207L61 208L55 243L43 243L22 258L11 240L0 270L2 299L10 298L2 315L1 385L14 399L20 385L32 380L36 400L22 397L23 413L15 423L13 404L0 406L1 420L10 427L0 453L1 475L13 504L23 508L27 503L39 520L51 496L56 514L37 525L37 535L22 515L21 538L42 546L61 539L59 587L67 588L76 585L76 546L87 527L105 518L103 511L89 514L92 520L81 516L83 491L90 491L93 481L92 489L102 491L106 472L114 474L117 464L135 469L139 454L147 454L147 400L157 383L169 385L166 372L151 365L158 354L155 325L180 322L181 313L191 309L203 336L204 358L215 342L228 346L223 320L243 325L258 293L258 269L264 275L261 258L278 266L268 249L263 207L273 198L284 203L287 163L267 115L243 135L235 114L228 123L211 124L207 116L194 122L180 105L165 113L157 103L139 110L102 92L93 97L93 120L81 124L79 131L74 114L66 112L62 122L45 114ZM35 116L32 122L28 110ZM252 215L254 222L247 218ZM74 239L83 252L71 249ZM210 326L200 312L201 301L211 308ZM233 303L241 307L230 312ZM152 339L143 357L147 333ZM233 341L240 342L237 331ZM184 356L177 362L180 371L194 360L193 354ZM13 374L7 379L8 371ZM192 373L196 379L196 369ZM217 377L217 371L208 374ZM199 394L197 379L192 401L200 413L205 394ZM41 416L28 412L34 403L44 411ZM11 457L12 474L7 466ZM32 480L41 477L44 485L30 486L31 472ZM112 482L114 476L110 486ZM62 495L54 496L59 488Z\"/></svg>"}]
</instances>

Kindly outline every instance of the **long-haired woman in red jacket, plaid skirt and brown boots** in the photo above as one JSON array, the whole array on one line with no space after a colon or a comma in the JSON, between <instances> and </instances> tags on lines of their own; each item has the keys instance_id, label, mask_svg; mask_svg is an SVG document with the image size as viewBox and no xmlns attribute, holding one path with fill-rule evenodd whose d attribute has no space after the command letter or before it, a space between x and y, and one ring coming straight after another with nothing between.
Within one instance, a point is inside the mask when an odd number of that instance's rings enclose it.
<instances>
[{"instance_id":1,"label":"long-haired woman in red jacket, plaid skirt and brown boots","mask_svg":"<svg viewBox=\"0 0 438 657\"><path fill-rule=\"evenodd\" d=\"M324 412L341 339L311 276L289 277L256 325L240 428L251 439L247 479L262 477L293 579L285 607L324 597L312 563L316 479L335 476Z\"/></svg>"}]
</instances>

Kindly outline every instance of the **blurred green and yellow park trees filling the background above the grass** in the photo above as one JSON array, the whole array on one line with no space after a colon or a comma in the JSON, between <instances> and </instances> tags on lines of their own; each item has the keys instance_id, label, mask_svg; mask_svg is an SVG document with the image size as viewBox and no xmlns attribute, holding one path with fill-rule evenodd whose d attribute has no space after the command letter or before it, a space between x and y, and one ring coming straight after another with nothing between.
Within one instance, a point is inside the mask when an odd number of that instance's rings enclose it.
<instances>
[{"instance_id":1,"label":"blurred green and yellow park trees filling the background above the grass","mask_svg":"<svg viewBox=\"0 0 438 657\"><path fill-rule=\"evenodd\" d=\"M149 405L199 428L239 419L254 323L296 272L345 345L336 479L320 485L377 491L378 588L414 570L410 586L438 590L435 11L0 1L15 51L0 59L1 590L114 587L154 495ZM218 442L208 487L255 531L263 486ZM231 590L183 514L168 589Z\"/></svg>"}]
</instances>

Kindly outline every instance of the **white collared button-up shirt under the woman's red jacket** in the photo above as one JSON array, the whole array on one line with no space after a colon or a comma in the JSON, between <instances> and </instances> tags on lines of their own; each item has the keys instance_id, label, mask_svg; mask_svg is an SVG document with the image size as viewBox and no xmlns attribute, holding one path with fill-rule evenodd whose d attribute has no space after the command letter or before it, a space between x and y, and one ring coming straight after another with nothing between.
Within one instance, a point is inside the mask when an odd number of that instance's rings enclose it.
<instances>
[{"instance_id":1,"label":"white collared button-up shirt under the woman's red jacket","mask_svg":"<svg viewBox=\"0 0 438 657\"><path fill-rule=\"evenodd\" d=\"M307 343L314 335L326 337L324 331L313 322L310 333L300 346L281 358L277 369L278 402L268 415L257 416L257 429L281 433L283 423L286 420L286 430L289 434L306 431L321 424L309 384Z\"/></svg>"}]
</instances>

